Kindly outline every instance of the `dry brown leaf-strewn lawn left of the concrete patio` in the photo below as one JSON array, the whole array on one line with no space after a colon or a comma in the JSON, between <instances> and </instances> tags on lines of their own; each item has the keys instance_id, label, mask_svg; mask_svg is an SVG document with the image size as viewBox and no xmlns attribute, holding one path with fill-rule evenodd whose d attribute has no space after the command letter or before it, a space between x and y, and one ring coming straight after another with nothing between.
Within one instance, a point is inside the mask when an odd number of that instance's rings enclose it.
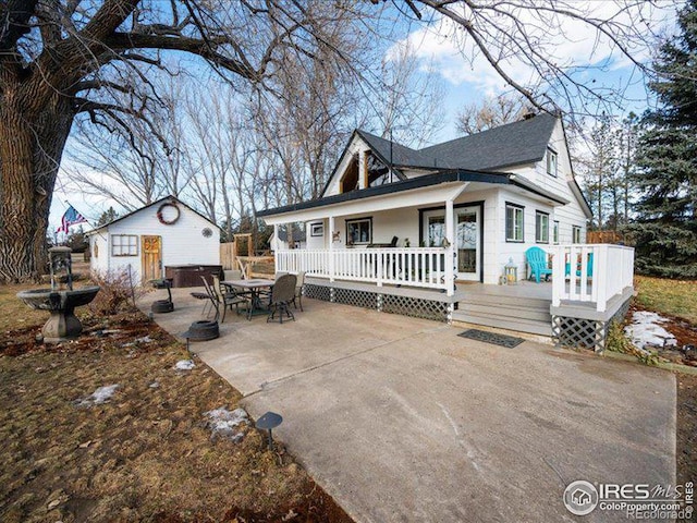
<instances>
[{"instance_id":1,"label":"dry brown leaf-strewn lawn left of the concrete patio","mask_svg":"<svg viewBox=\"0 0 697 523\"><path fill-rule=\"evenodd\" d=\"M185 348L145 316L87 315L80 341L45 348L47 313L16 291L0 287L0 521L351 521L253 427L212 440L204 413L240 393L199 361L174 369Z\"/></svg>"}]
</instances>

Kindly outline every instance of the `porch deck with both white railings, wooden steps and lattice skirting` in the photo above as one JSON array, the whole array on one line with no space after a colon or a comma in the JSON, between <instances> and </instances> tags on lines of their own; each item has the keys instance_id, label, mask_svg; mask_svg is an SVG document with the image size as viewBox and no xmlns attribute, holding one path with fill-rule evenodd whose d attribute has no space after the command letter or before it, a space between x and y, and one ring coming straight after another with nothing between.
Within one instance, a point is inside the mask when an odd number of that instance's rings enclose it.
<instances>
[{"instance_id":1,"label":"porch deck with both white railings, wooden steps and lattice skirting","mask_svg":"<svg viewBox=\"0 0 697 523\"><path fill-rule=\"evenodd\" d=\"M277 253L276 260L278 271L306 272L308 297L546 336L560 345L595 350L604 348L610 323L624 314L634 293L631 247L555 245L549 250L549 281L523 279L496 285L453 280L450 288L445 278L433 277L448 270L447 252L447 247L295 250Z\"/></svg>"}]
</instances>

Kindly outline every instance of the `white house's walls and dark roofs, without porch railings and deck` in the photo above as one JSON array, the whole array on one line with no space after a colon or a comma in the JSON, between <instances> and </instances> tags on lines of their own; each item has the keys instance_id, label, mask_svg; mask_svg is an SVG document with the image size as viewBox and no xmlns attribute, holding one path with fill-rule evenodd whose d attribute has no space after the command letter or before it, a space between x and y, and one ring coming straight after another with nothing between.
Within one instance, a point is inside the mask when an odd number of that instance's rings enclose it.
<instances>
[{"instance_id":1,"label":"white house's walls and dark roofs, without porch railings and deck","mask_svg":"<svg viewBox=\"0 0 697 523\"><path fill-rule=\"evenodd\" d=\"M548 172L549 155L555 155L554 172ZM523 276L531 246L583 243L591 216L574 179L562 121L551 114L420 150L356 131L319 200L259 216L270 224L306 221L306 231L321 224L322 236L307 234L308 250L330 243L440 247L451 228L444 219L448 199L454 209L455 279L489 284L499 282L510 259ZM516 239L506 238L512 206L523 214ZM538 219L546 223L542 238L536 234Z\"/></svg>"}]
</instances>

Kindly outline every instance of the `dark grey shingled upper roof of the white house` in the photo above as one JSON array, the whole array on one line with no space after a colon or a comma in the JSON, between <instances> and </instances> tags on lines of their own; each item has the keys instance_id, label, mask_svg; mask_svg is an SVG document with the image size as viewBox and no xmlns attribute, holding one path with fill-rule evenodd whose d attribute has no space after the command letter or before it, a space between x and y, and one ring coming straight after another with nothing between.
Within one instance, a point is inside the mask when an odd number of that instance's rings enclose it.
<instances>
[{"instance_id":1,"label":"dark grey shingled upper roof of the white house","mask_svg":"<svg viewBox=\"0 0 697 523\"><path fill-rule=\"evenodd\" d=\"M365 131L358 134L395 167L491 171L541 160L555 123L557 117L541 113L419 150Z\"/></svg>"}]
</instances>

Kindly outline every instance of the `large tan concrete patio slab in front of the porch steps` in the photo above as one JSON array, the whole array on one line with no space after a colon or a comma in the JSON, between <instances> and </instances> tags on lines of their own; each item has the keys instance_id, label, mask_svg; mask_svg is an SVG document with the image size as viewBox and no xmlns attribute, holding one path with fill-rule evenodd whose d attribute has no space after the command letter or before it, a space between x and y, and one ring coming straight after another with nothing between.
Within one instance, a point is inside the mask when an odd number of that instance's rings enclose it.
<instances>
[{"instance_id":1,"label":"large tan concrete patio slab in front of the porch steps","mask_svg":"<svg viewBox=\"0 0 697 523\"><path fill-rule=\"evenodd\" d=\"M181 332L200 303L175 291L178 309L156 319ZM278 437L356 521L575 521L562 503L572 481L675 483L670 373L305 304L283 326L232 315L193 350L253 416L283 415Z\"/></svg>"}]
</instances>

